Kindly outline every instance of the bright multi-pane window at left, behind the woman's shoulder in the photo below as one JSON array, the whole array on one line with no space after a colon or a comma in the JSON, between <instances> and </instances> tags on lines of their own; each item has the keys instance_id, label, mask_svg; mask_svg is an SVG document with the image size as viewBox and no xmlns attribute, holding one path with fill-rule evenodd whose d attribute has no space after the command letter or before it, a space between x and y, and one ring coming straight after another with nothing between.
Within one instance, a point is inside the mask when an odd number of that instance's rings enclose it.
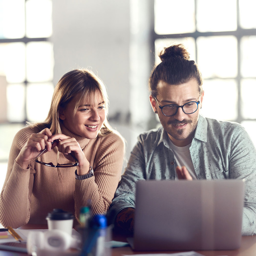
<instances>
[{"instance_id":1,"label":"bright multi-pane window at left, behind the woman's shoulder","mask_svg":"<svg viewBox=\"0 0 256 256\"><path fill-rule=\"evenodd\" d=\"M0 168L4 170L0 180L4 180L15 133L27 121L44 121L50 107L52 1L0 0L0 24ZM38 102L45 108L37 108Z\"/></svg>"}]
</instances>

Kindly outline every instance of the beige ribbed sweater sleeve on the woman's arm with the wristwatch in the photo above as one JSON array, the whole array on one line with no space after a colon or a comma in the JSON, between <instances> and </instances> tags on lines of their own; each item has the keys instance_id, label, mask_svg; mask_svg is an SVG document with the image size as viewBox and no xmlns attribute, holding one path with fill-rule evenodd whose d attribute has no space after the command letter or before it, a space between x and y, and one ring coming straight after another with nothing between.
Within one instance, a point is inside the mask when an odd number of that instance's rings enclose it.
<instances>
[{"instance_id":1,"label":"beige ribbed sweater sleeve on the woman's arm with the wristwatch","mask_svg":"<svg viewBox=\"0 0 256 256\"><path fill-rule=\"evenodd\" d=\"M77 220L80 208L88 204L93 215L108 210L121 177L124 140L115 133L109 134L101 138L98 147L91 148L90 154L95 156L93 163L90 162L94 176L85 180L76 180L75 184Z\"/></svg>"}]
</instances>

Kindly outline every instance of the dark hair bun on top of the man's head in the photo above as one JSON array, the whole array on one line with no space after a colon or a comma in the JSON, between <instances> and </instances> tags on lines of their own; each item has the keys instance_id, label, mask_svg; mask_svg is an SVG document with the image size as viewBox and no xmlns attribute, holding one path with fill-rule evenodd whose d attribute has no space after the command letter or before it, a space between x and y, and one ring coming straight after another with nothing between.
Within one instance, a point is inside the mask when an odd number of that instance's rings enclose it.
<instances>
[{"instance_id":1,"label":"dark hair bun on top of the man's head","mask_svg":"<svg viewBox=\"0 0 256 256\"><path fill-rule=\"evenodd\" d=\"M172 45L170 47L165 47L159 53L159 58L162 61L170 60L172 58L180 58L183 60L189 60L189 53L185 49L183 44Z\"/></svg>"}]
</instances>

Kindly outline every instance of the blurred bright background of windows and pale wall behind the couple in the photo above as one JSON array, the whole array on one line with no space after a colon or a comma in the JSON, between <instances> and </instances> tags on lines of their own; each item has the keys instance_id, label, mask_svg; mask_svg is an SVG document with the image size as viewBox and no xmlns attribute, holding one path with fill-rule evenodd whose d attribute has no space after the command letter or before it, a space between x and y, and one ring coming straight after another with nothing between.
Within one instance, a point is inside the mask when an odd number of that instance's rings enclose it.
<instances>
[{"instance_id":1,"label":"blurred bright background of windows and pale wall behind the couple","mask_svg":"<svg viewBox=\"0 0 256 256\"><path fill-rule=\"evenodd\" d=\"M204 77L204 116L241 123L256 145L255 3L0 0L0 188L15 133L45 119L54 86L75 68L106 84L109 122L129 158L140 132L159 125L148 77L157 53L176 43Z\"/></svg>"}]
</instances>

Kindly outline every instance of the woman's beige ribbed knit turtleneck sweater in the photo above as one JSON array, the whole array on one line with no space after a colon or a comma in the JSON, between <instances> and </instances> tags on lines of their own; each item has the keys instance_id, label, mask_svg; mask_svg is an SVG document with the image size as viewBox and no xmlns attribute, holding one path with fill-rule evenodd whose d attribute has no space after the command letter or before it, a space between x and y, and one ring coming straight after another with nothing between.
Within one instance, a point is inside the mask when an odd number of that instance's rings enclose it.
<instances>
[{"instance_id":1,"label":"woman's beige ribbed knit turtleneck sweater","mask_svg":"<svg viewBox=\"0 0 256 256\"><path fill-rule=\"evenodd\" d=\"M79 219L81 207L90 202L92 214L108 210L114 197L124 159L124 140L116 132L85 139L62 126L62 133L76 138L92 165L94 176L75 179L76 167L57 168L38 164L33 159L28 169L16 163L21 148L32 133L31 126L21 129L14 137L8 169L0 195L0 222L4 227L18 228L27 223L46 224L45 217L53 208L72 212ZM57 147L45 153L40 161L68 163ZM57 156L58 155L58 156ZM58 159L57 159L58 157Z\"/></svg>"}]
</instances>

